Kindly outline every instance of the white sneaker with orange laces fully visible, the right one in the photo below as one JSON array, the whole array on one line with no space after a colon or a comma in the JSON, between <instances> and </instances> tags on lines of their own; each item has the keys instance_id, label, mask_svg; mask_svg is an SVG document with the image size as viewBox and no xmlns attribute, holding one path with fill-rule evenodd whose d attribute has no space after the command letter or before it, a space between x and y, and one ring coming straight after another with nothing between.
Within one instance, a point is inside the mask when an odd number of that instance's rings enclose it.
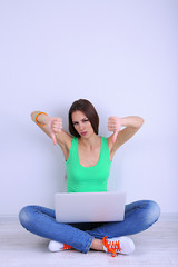
<instances>
[{"instance_id":1,"label":"white sneaker with orange laces fully visible, the right one","mask_svg":"<svg viewBox=\"0 0 178 267\"><path fill-rule=\"evenodd\" d=\"M129 237L115 237L108 239L107 236L102 238L103 249L106 253L111 253L116 257L117 253L131 254L135 250L135 244Z\"/></svg>"}]
</instances>

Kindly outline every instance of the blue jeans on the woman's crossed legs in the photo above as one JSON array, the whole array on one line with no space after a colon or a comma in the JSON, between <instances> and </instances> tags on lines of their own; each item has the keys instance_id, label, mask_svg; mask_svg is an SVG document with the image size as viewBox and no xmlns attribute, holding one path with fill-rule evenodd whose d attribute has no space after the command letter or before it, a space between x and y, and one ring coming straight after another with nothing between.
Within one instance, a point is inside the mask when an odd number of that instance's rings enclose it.
<instances>
[{"instance_id":1,"label":"blue jeans on the woman's crossed legs","mask_svg":"<svg viewBox=\"0 0 178 267\"><path fill-rule=\"evenodd\" d=\"M126 205L123 221L62 224L56 221L55 210L40 206L22 208L19 220L27 230L38 236L68 244L87 254L93 238L112 238L144 231L158 220L159 215L157 202L140 200Z\"/></svg>"}]
</instances>

